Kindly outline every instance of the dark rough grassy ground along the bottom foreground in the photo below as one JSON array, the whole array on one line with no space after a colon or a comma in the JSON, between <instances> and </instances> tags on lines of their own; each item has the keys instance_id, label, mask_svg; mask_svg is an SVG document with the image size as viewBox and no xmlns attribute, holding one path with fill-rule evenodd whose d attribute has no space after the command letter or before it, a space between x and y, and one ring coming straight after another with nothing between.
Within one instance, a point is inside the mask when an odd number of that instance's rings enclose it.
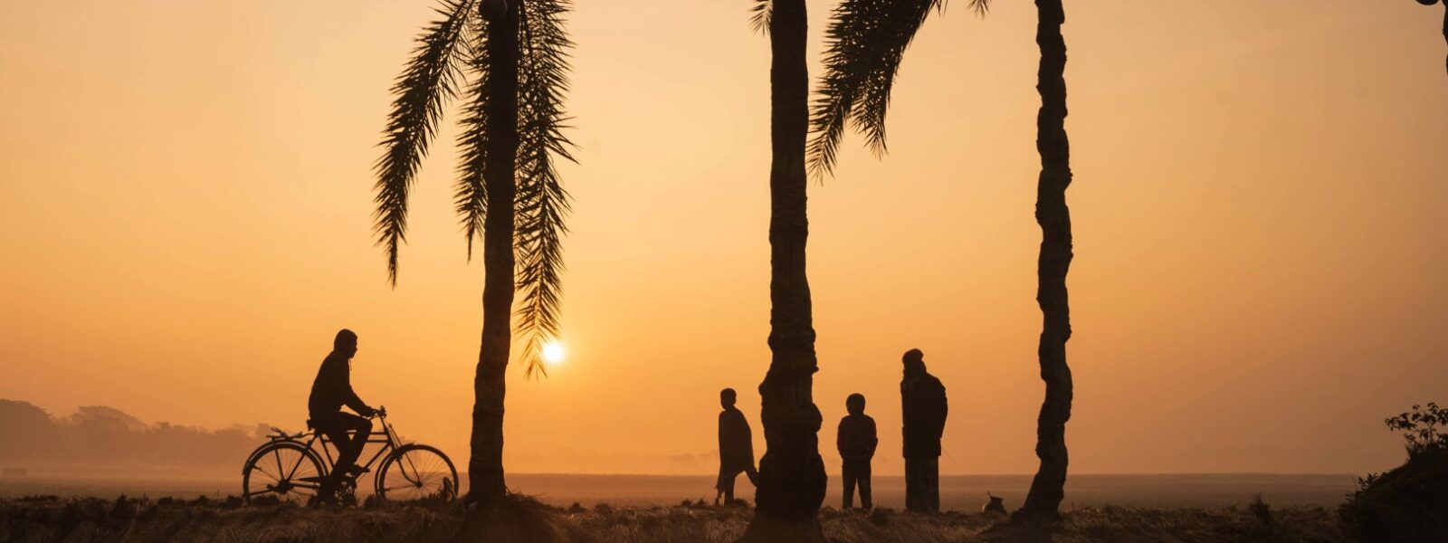
<instances>
[{"instance_id":1,"label":"dark rough grassy ground along the bottom foreground","mask_svg":"<svg viewBox=\"0 0 1448 543\"><path fill-rule=\"evenodd\" d=\"M547 539L598 543L733 542L752 510L676 505L559 510L521 500L517 511L549 524ZM892 510L821 513L831 542L1345 542L1332 511L1090 508L1053 526L1011 526L999 515L917 515ZM458 508L388 505L307 510L226 501L4 500L0 542L453 542L473 533ZM476 536L476 533L473 533ZM465 537L463 540L484 540Z\"/></svg>"}]
</instances>

